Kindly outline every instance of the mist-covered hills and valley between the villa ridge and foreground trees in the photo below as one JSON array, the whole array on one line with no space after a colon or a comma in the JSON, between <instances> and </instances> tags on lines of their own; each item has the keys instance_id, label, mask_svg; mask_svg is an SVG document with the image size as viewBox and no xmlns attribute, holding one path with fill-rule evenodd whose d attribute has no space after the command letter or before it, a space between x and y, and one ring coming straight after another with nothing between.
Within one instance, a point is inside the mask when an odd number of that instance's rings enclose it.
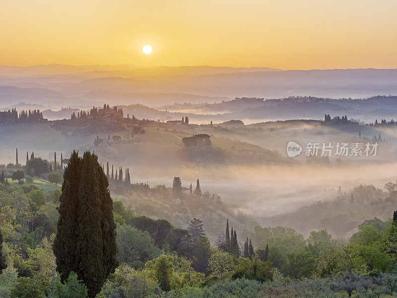
<instances>
[{"instance_id":1,"label":"mist-covered hills and valley between the villa ridge and foreground trees","mask_svg":"<svg viewBox=\"0 0 397 298\"><path fill-rule=\"evenodd\" d=\"M65 120L64 120L65 121ZM70 120L66 120L70 121ZM60 122L63 123L63 122ZM335 191L349 196L360 184L383 188L396 181L396 128L375 128L352 123L325 126L317 120L265 122L224 129L220 125L194 126L169 130L165 124L146 128L144 135L129 131L85 132L55 124L19 124L0 127L0 163L15 162L14 150L35 152L51 160L54 151L68 156L73 149L91 150L99 161L115 168L129 168L134 183L170 186L174 176L189 187L199 178L203 191L216 193L222 201L252 216L260 224L273 225L273 218L296 212L302 206L335 198ZM76 130L76 129L79 130ZM175 130L176 129L176 130ZM197 133L211 135L209 149L187 151L181 139ZM314 143L354 143L379 134L387 143L379 145L377 156L338 156L329 161L309 163L304 154L286 155L286 144L295 141L305 146ZM40 140L36 136L40 136ZM119 135L124 141L95 146L97 136L104 140ZM370 140L370 139L368 139ZM188 154L188 155L186 155ZM190 156L190 157L187 157ZM192 157L193 156L193 157ZM263 159L258 159L259 157ZM263 157L262 157L263 156ZM192 159L194 158L194 159ZM331 193L325 193L325 189Z\"/></svg>"}]
</instances>

